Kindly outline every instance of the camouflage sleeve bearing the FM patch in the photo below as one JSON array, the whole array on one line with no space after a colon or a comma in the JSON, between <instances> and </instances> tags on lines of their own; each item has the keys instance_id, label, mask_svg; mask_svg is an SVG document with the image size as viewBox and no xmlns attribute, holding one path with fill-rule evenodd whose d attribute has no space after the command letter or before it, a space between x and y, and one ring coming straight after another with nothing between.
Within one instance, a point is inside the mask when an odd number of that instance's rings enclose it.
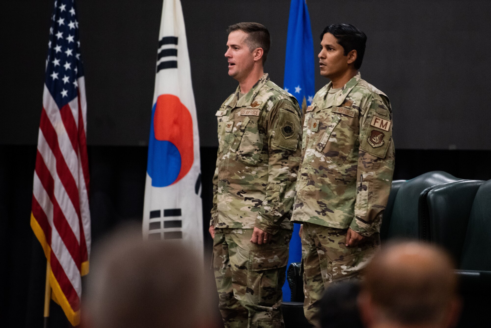
<instances>
[{"instance_id":1,"label":"camouflage sleeve bearing the FM patch","mask_svg":"<svg viewBox=\"0 0 491 328\"><path fill-rule=\"evenodd\" d=\"M388 99L376 97L360 119L355 217L350 228L363 236L380 232L394 172L392 117Z\"/></svg>"}]
</instances>

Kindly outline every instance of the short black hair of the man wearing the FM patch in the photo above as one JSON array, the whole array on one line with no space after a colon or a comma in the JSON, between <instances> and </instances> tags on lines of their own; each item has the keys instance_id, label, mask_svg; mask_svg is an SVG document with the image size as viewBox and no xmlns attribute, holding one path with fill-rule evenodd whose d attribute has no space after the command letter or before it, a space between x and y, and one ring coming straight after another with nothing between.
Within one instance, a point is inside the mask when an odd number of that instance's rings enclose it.
<instances>
[{"instance_id":1,"label":"short black hair of the man wearing the FM patch","mask_svg":"<svg viewBox=\"0 0 491 328\"><path fill-rule=\"evenodd\" d=\"M322 31L321 41L326 33L334 35L338 43L343 47L345 56L350 51L356 50L355 69L359 69L363 61L363 55L365 55L365 45L367 42L365 33L351 24L331 24Z\"/></svg>"}]
</instances>

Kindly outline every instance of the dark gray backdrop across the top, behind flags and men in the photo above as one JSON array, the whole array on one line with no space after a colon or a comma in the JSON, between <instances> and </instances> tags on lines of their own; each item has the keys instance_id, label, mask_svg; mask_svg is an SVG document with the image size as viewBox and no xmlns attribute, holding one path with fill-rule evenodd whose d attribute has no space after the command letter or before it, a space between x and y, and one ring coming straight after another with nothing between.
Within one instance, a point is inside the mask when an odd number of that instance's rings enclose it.
<instances>
[{"instance_id":1,"label":"dark gray backdrop across the top, behind flags and men","mask_svg":"<svg viewBox=\"0 0 491 328\"><path fill-rule=\"evenodd\" d=\"M289 0L182 0L201 146L216 146L214 113L236 87L227 76L226 27L271 31L266 71L283 84ZM330 23L368 35L362 77L394 111L396 148L491 149L491 1L307 1L315 53ZM79 0L89 145L146 145L162 0ZM8 1L1 38L0 143L35 144L52 0ZM318 72L316 67L316 72ZM316 73L316 89L327 82Z\"/></svg>"}]
</instances>

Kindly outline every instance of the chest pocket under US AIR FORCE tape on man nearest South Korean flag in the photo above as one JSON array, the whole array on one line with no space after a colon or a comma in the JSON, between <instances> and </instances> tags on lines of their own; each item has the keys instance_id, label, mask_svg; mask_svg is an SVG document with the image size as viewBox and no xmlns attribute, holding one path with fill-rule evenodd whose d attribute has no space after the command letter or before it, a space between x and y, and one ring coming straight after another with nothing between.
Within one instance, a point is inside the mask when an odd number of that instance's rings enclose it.
<instances>
[{"instance_id":1,"label":"chest pocket under US AIR FORCE tape on man nearest South Korean flag","mask_svg":"<svg viewBox=\"0 0 491 328\"><path fill-rule=\"evenodd\" d=\"M246 162L256 164L263 150L263 141L259 135L257 118L246 116L244 121L238 122L234 128L234 141L230 150L239 155Z\"/></svg>"}]
</instances>

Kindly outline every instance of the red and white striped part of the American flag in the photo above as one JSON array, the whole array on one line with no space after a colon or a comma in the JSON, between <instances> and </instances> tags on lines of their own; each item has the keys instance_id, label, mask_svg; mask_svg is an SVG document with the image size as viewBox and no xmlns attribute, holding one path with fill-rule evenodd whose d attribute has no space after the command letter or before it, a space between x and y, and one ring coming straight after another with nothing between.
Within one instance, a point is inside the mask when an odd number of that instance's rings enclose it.
<instances>
[{"instance_id":1,"label":"red and white striped part of the American flag","mask_svg":"<svg viewBox=\"0 0 491 328\"><path fill-rule=\"evenodd\" d=\"M32 196L32 216L49 246L52 273L73 312L80 308L82 267L88 268L90 254L83 77L78 86L78 97L61 109L44 86Z\"/></svg>"}]
</instances>

